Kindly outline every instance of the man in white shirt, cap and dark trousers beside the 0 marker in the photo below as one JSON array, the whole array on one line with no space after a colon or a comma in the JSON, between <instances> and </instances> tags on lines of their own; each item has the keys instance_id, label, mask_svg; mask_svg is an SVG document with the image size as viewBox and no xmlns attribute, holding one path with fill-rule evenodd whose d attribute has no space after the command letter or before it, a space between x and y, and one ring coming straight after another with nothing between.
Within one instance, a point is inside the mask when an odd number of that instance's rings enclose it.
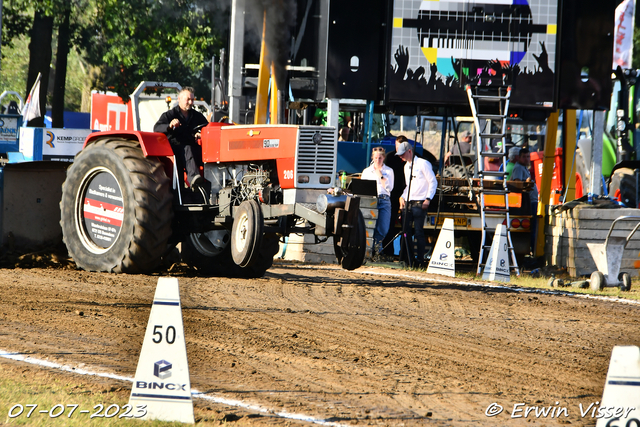
<instances>
[{"instance_id":1,"label":"man in white shirt, cap and dark trousers beside the 0 marker","mask_svg":"<svg viewBox=\"0 0 640 427\"><path fill-rule=\"evenodd\" d=\"M425 266L425 246L424 237L424 220L429 209L429 204L436 194L438 181L433 173L431 163L413 154L413 148L408 142L401 143L396 155L404 162L404 178L407 186L400 196L400 209L403 215L406 212L406 218L403 217L403 233L406 234L406 242L408 245L408 261L410 266ZM405 210L405 205L407 209ZM410 226L413 222L413 228ZM415 236L417 245L417 260L413 258L413 237ZM404 251L406 247L402 247ZM403 258L402 256L400 257ZM416 264L417 263L417 264Z\"/></svg>"}]
</instances>

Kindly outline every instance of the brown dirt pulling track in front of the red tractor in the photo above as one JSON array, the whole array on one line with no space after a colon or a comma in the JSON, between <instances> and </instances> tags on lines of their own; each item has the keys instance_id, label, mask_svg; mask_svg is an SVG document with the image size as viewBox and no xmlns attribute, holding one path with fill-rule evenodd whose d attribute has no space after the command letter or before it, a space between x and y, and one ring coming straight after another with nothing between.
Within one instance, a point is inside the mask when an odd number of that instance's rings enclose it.
<instances>
[{"instance_id":1,"label":"brown dirt pulling track in front of the red tractor","mask_svg":"<svg viewBox=\"0 0 640 427\"><path fill-rule=\"evenodd\" d=\"M640 344L636 304L399 270L165 274L179 277L192 387L345 425L595 425L579 405L602 397L613 346ZM0 349L132 377L157 279L1 269ZM487 417L494 402L505 411ZM517 403L569 417L512 419Z\"/></svg>"}]
</instances>

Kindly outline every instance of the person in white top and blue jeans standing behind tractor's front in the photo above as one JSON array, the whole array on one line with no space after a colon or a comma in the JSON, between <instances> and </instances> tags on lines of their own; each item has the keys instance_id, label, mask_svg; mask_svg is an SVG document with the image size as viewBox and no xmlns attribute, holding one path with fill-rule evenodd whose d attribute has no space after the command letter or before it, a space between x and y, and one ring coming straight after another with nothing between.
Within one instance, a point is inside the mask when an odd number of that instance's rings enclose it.
<instances>
[{"instance_id":1,"label":"person in white top and blue jeans standing behind tractor's front","mask_svg":"<svg viewBox=\"0 0 640 427\"><path fill-rule=\"evenodd\" d=\"M362 179L376 181L378 188L378 219L373 232L372 257L379 252L383 239L391 224L391 190L393 189L393 169L384 164L384 148L374 147L371 152L371 166L362 171Z\"/></svg>"}]
</instances>

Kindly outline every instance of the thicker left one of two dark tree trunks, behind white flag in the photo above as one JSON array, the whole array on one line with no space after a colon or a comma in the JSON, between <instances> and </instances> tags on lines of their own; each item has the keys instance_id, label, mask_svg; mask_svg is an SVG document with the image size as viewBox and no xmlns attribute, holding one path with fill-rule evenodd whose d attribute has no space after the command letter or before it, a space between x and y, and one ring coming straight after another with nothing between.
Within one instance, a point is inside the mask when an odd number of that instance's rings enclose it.
<instances>
[{"instance_id":1,"label":"thicker left one of two dark tree trunks, behind white flag","mask_svg":"<svg viewBox=\"0 0 640 427\"><path fill-rule=\"evenodd\" d=\"M41 117L30 120L28 126L44 126L44 115L47 110L47 90L49 89L49 71L51 69L51 38L53 35L53 17L36 11L31 29L29 43L29 73L27 77L27 96L31 87L42 73L40 80L40 114Z\"/></svg>"}]
</instances>

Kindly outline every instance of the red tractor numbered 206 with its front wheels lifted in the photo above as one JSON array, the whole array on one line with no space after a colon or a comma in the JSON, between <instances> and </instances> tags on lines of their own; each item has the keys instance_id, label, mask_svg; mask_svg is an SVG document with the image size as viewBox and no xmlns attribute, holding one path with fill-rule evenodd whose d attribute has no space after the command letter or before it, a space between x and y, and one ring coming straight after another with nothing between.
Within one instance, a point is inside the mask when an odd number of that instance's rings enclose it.
<instances>
[{"instance_id":1,"label":"red tractor numbered 206 with its front wheels lifted","mask_svg":"<svg viewBox=\"0 0 640 427\"><path fill-rule=\"evenodd\" d=\"M63 239L79 267L149 272L182 243L183 261L205 274L261 277L290 233L333 237L343 268L363 264L359 198L326 208L336 176L333 128L209 123L201 135L206 185L196 192L176 173L164 134L87 138L60 203Z\"/></svg>"}]
</instances>

